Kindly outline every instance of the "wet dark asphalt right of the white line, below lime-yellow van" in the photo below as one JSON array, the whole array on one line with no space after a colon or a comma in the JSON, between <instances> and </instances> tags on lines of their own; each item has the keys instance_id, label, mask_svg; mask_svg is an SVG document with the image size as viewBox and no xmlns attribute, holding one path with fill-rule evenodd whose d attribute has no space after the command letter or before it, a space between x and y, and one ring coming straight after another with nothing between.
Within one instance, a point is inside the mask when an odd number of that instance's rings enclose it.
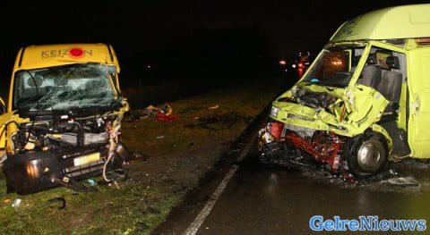
<instances>
[{"instance_id":1,"label":"wet dark asphalt right of the white line, below lime-yellow van","mask_svg":"<svg viewBox=\"0 0 430 235\"><path fill-rule=\"evenodd\" d=\"M374 184L345 187L303 172L248 163L230 180L198 234L309 234L309 219L316 214L326 219L334 215L342 219L359 215L378 215L380 220L430 218L428 191L392 185L391 189L398 189L387 191Z\"/></svg>"}]
</instances>

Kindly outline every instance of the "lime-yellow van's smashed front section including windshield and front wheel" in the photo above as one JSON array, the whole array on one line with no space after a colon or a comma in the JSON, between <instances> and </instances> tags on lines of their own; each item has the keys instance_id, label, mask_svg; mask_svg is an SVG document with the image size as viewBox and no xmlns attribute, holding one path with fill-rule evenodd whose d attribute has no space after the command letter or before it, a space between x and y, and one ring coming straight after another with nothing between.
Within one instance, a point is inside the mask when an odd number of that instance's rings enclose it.
<instances>
[{"instance_id":1,"label":"lime-yellow van's smashed front section including windshield and front wheel","mask_svg":"<svg viewBox=\"0 0 430 235\"><path fill-rule=\"evenodd\" d=\"M272 103L270 121L259 132L263 164L312 159L331 172L362 178L383 170L391 138L379 121L389 102L356 83L364 51L363 46L324 49L304 77Z\"/></svg>"}]
</instances>

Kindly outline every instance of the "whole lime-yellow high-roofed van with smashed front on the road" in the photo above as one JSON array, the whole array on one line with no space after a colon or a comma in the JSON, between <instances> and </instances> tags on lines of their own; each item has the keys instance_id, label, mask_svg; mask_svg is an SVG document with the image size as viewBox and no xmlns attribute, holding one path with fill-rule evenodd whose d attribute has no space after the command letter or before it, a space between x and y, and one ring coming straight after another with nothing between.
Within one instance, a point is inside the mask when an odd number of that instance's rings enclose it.
<instances>
[{"instance_id":1,"label":"whole lime-yellow high-roofed van with smashed front on the road","mask_svg":"<svg viewBox=\"0 0 430 235\"><path fill-rule=\"evenodd\" d=\"M295 160L300 149L333 172L366 178L390 159L430 158L429 79L430 4L347 21L272 103L262 162Z\"/></svg>"}]
</instances>

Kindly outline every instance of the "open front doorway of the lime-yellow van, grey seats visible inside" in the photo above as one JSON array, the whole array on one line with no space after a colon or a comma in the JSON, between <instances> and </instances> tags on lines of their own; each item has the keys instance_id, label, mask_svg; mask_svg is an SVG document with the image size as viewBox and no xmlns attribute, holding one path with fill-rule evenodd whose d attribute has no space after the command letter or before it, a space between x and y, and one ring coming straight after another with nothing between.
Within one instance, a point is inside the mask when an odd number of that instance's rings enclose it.
<instances>
[{"instance_id":1,"label":"open front doorway of the lime-yellow van, grey seats visible inside","mask_svg":"<svg viewBox=\"0 0 430 235\"><path fill-rule=\"evenodd\" d=\"M374 88L389 104L383 109L379 125L392 140L391 154L409 155L407 142L407 94L409 57L405 50L396 46L372 42L366 65L357 80L358 84Z\"/></svg>"}]
</instances>

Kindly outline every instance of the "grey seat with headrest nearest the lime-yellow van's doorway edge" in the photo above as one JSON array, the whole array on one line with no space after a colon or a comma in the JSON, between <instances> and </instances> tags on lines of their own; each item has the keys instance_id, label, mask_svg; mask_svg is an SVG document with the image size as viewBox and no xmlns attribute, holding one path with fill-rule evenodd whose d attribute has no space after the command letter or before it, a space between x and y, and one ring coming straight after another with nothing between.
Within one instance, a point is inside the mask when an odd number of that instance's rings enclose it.
<instances>
[{"instance_id":1,"label":"grey seat with headrest nearest the lime-yellow van's doorway edge","mask_svg":"<svg viewBox=\"0 0 430 235\"><path fill-rule=\"evenodd\" d=\"M390 69L400 69L399 58L397 56L388 56L387 64ZM390 101L387 111L395 111L394 104L399 106L401 93L402 74L399 71L383 71L381 82L377 90Z\"/></svg>"}]
</instances>

